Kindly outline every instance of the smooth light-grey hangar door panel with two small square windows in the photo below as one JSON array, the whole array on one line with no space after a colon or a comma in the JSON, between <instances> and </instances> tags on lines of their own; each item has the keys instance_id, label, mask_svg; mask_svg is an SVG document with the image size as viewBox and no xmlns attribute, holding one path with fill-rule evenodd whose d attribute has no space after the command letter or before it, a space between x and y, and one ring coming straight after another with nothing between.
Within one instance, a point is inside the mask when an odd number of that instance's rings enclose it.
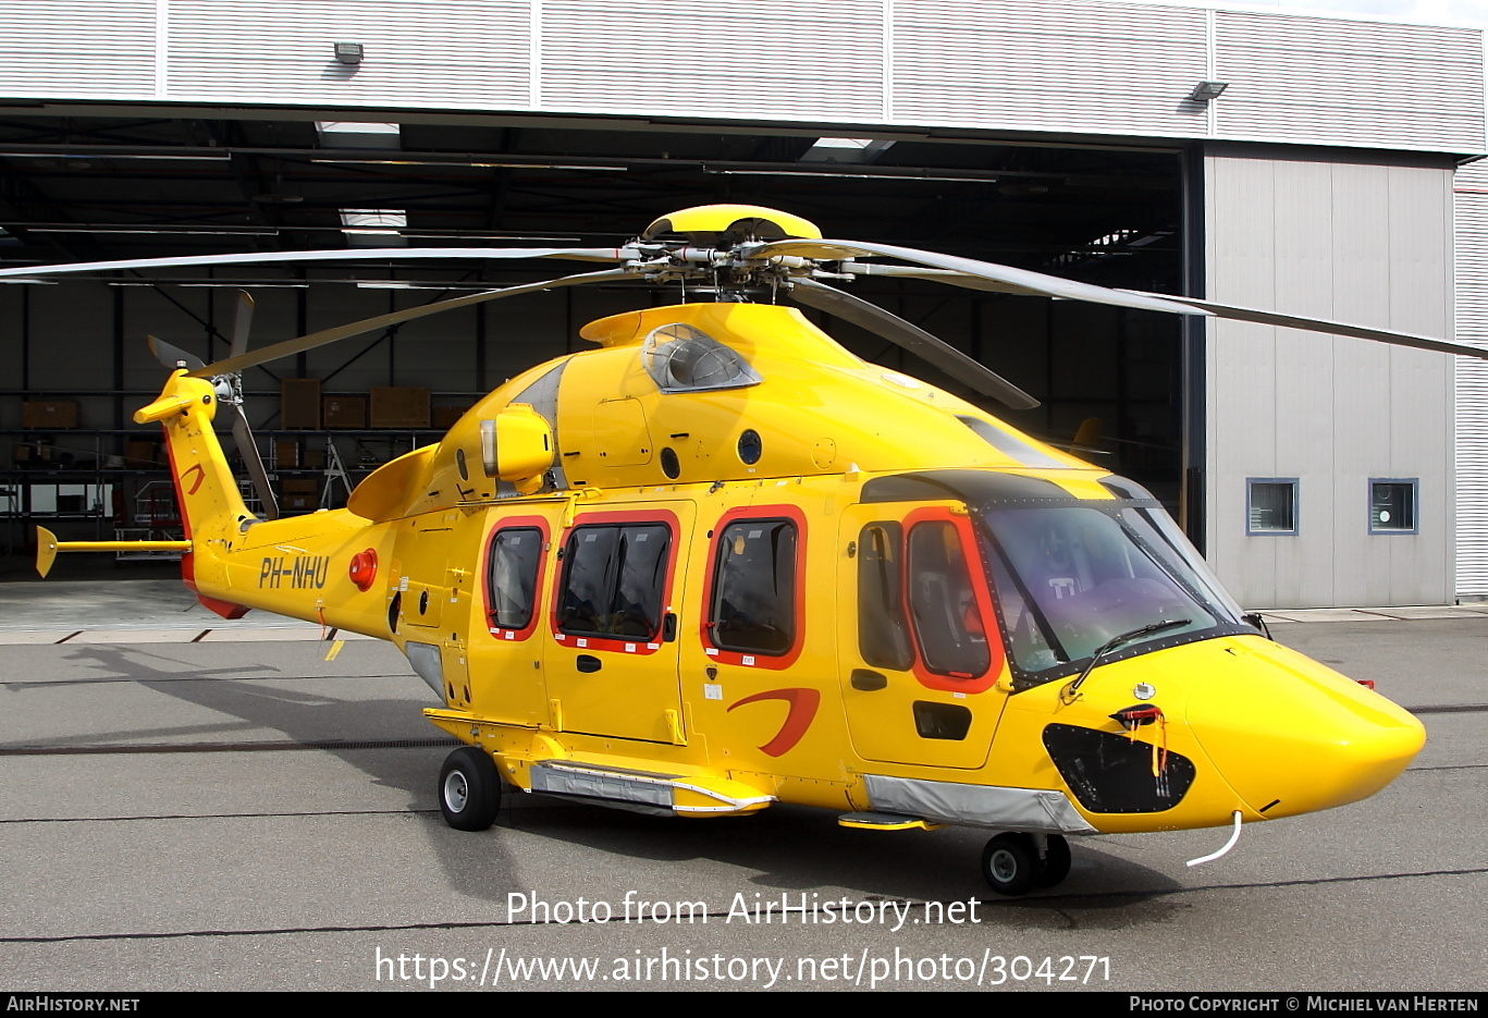
<instances>
[{"instance_id":1,"label":"smooth light-grey hangar door panel with two small square windows","mask_svg":"<svg viewBox=\"0 0 1488 1018\"><path fill-rule=\"evenodd\" d=\"M1205 158L1217 301L1451 335L1452 165ZM1452 597L1452 357L1208 326L1208 558L1248 607ZM1298 533L1247 536L1245 479L1298 478ZM1417 478L1418 533L1369 533L1370 478Z\"/></svg>"}]
</instances>

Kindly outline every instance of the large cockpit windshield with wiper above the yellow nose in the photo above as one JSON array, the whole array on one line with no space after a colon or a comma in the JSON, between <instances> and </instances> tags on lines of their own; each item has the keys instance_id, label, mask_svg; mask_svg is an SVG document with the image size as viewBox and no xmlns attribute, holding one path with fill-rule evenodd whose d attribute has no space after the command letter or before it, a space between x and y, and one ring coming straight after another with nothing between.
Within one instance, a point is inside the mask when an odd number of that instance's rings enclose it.
<instances>
[{"instance_id":1,"label":"large cockpit windshield with wiper above the yellow nose","mask_svg":"<svg viewBox=\"0 0 1488 1018\"><path fill-rule=\"evenodd\" d=\"M1240 607L1150 497L994 502L976 515L1019 685L1077 671L1109 640L1159 622L1176 625L1134 638L1103 661L1199 634L1250 631Z\"/></svg>"}]
</instances>

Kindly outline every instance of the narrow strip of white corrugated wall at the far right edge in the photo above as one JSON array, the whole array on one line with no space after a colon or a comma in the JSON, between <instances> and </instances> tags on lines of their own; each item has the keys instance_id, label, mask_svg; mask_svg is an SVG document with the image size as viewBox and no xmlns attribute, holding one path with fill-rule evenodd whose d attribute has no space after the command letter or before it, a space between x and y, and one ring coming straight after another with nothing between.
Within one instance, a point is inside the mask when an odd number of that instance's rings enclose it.
<instances>
[{"instance_id":1,"label":"narrow strip of white corrugated wall at the far right edge","mask_svg":"<svg viewBox=\"0 0 1488 1018\"><path fill-rule=\"evenodd\" d=\"M1488 347L1488 161L1457 171L1457 338ZM1488 598L1488 360L1457 362L1457 595Z\"/></svg>"}]
</instances>

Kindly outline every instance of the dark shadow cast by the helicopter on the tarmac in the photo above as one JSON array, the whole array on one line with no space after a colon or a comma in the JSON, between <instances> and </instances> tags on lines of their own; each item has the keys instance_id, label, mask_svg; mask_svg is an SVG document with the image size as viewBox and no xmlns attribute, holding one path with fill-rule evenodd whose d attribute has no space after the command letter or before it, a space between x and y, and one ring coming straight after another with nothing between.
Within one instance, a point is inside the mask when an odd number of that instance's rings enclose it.
<instances>
[{"instance_id":1,"label":"dark shadow cast by the helicopter on the tarmac","mask_svg":"<svg viewBox=\"0 0 1488 1018\"><path fill-rule=\"evenodd\" d=\"M295 646L307 647L305 643ZM381 646L351 643L342 656L347 650L359 655L365 653L362 647ZM293 655L290 650L280 656L292 661ZM1100 912L1113 912L1112 921L1129 924L1140 915L1162 915L1178 908L1164 900L1178 884L1158 869L1088 847L1094 844L1091 839L1071 839L1074 863L1059 889L1034 891L1025 899L1001 899L987 896L978 872L981 850L991 832L949 827L933 833L865 833L838 826L827 811L806 807L775 805L748 817L708 822L641 816L512 792L504 796L493 829L478 835L457 832L445 825L436 799L439 762L446 750L427 744L417 752L368 747L378 741L437 738L423 726L420 710L426 704L417 698L423 686L412 674L408 676L406 700L360 701L289 688L289 682L323 676L305 676L304 668L295 674L293 668L262 661L199 668L187 655L124 644L74 644L67 659L88 668L91 680L138 683L225 719L205 725L100 731L89 734L89 741L174 744L208 738L231 741L234 735L259 741L244 737L274 732L275 741L314 743L318 752L365 774L372 784L402 792L429 847L430 862L443 874L445 887L457 896L493 905L504 906L509 891L552 883L542 877L548 866L555 868L554 881L558 881L564 863L554 860L562 856L558 847L567 845L618 860L620 868L629 869L625 878L637 887L674 880L677 866L690 868L689 886L707 881L719 889L710 897L723 894L725 900L734 891L750 896L759 891L768 897L821 889L839 889L860 900L981 897L1000 906L995 912L1000 923L1040 929L1070 929L1077 921L1089 924L1091 915ZM375 655L366 653L366 659L371 664ZM381 676L390 670L371 671ZM528 844L530 838L539 842ZM710 875L710 868L728 872ZM561 890L561 886L551 891L543 889L551 894ZM626 887L620 887L616 897ZM1071 918L1074 903L1079 903L1080 920Z\"/></svg>"}]
</instances>

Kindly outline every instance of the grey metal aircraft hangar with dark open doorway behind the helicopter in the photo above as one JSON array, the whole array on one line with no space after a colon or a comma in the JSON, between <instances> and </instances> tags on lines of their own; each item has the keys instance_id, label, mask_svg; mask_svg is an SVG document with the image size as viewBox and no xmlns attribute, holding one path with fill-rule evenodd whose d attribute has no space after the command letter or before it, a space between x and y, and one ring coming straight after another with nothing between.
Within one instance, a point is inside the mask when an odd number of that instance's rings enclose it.
<instances>
[{"instance_id":1,"label":"grey metal aircraft hangar with dark open doorway behind the helicopter","mask_svg":"<svg viewBox=\"0 0 1488 1018\"><path fill-rule=\"evenodd\" d=\"M1434 336L1454 333L1454 299L1481 302L1488 257L1467 241L1488 232L1475 217L1488 177L1458 170L1488 149L1478 30L1095 0L85 10L0 0L7 268L615 246L671 210L741 202L835 238ZM211 359L238 290L265 345L570 271L558 265L299 262L0 286L9 561L27 567L36 522L100 537L168 525L153 432L129 421L162 375L147 333ZM1476 366L923 281L853 292L1036 394L1039 409L1003 412L1030 433L1070 442L1098 418L1091 458L1168 502L1247 607L1488 594L1488 457L1472 451L1478 429L1455 438L1488 406ZM344 497L326 484L332 448L354 482L576 348L585 321L674 299L574 287L373 332L250 369L248 417L275 482L308 510ZM957 387L809 317L863 357ZM1460 321L1466 339L1482 332ZM318 382L312 427L286 420L296 380ZM388 388L427 390L427 417L368 414Z\"/></svg>"}]
</instances>

